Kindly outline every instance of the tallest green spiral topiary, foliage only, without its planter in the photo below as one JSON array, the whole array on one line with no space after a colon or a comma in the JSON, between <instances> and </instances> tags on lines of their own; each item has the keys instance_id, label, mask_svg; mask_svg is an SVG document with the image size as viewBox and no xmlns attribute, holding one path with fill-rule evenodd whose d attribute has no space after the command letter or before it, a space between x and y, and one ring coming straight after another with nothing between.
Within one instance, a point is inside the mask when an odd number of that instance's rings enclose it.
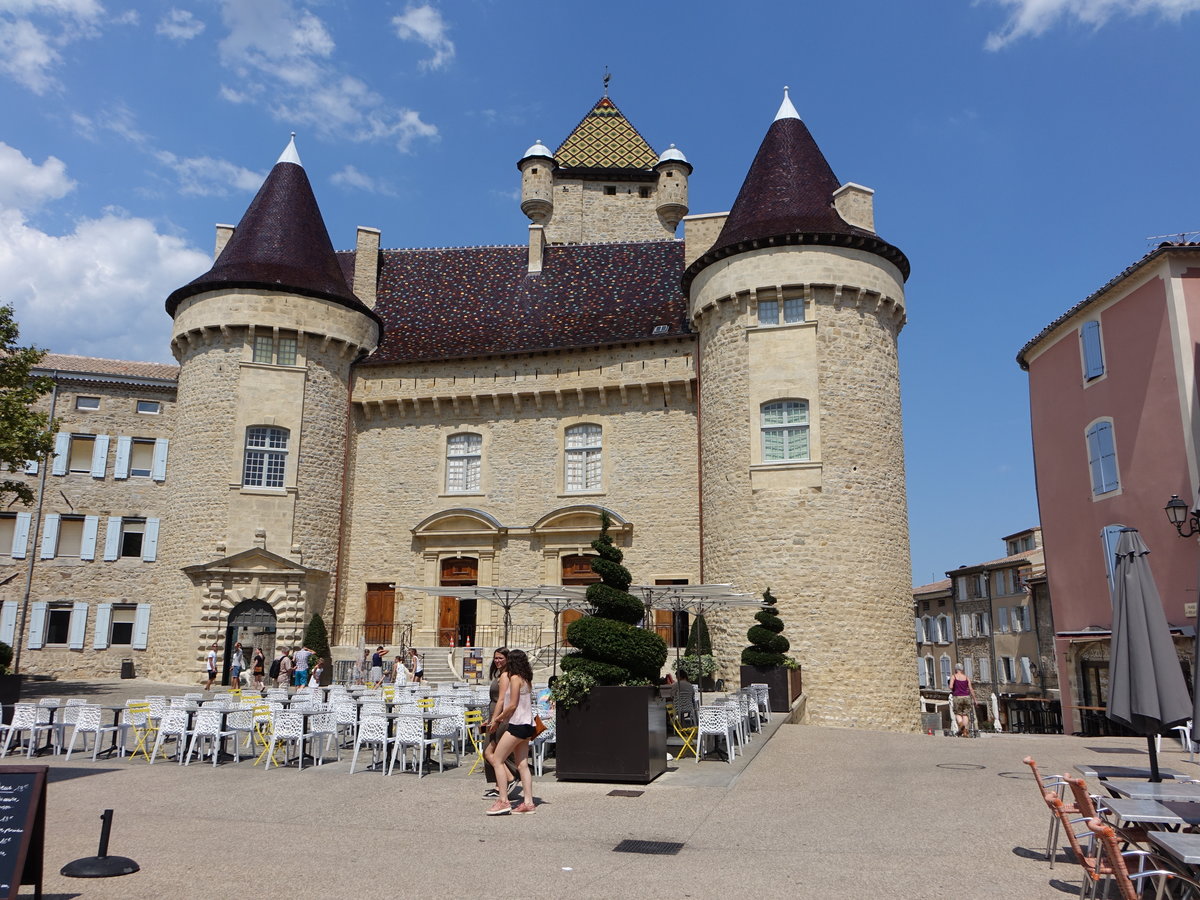
<instances>
[{"instance_id":1,"label":"tallest green spiral topiary, foliage only, without its planter","mask_svg":"<svg viewBox=\"0 0 1200 900\"><path fill-rule=\"evenodd\" d=\"M595 612L572 622L566 638L576 652L563 658L568 673L580 673L596 684L653 684L667 659L667 644L654 631L637 626L646 611L642 602L628 592L634 580L620 564L624 553L612 541L608 527L612 520L600 514L600 536L592 541L596 557L592 571L600 582L588 587L588 602Z\"/></svg>"}]
</instances>

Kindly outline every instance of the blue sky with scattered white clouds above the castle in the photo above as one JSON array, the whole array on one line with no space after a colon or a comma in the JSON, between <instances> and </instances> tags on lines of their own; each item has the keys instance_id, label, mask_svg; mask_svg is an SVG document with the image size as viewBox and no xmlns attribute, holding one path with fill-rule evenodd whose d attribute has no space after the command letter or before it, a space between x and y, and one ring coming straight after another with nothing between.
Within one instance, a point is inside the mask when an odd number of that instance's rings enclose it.
<instances>
[{"instance_id":1,"label":"blue sky with scattered white clouds above the castle","mask_svg":"<svg viewBox=\"0 0 1200 900\"><path fill-rule=\"evenodd\" d=\"M912 262L924 583L1037 521L1016 352L1152 235L1200 230L1198 8L0 0L0 300L53 350L170 361L163 299L292 131L340 248L359 224L386 247L520 244L515 163L566 137L606 66L650 145L695 166L691 211L727 210L787 84Z\"/></svg>"}]
</instances>

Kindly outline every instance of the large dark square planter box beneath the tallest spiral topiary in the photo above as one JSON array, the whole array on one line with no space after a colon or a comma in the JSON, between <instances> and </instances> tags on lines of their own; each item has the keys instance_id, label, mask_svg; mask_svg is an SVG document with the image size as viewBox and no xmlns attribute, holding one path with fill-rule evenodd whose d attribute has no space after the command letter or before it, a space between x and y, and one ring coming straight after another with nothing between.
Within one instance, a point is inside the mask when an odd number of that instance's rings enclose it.
<instances>
[{"instance_id":1,"label":"large dark square planter box beneath the tallest spiral topiary","mask_svg":"<svg viewBox=\"0 0 1200 900\"><path fill-rule=\"evenodd\" d=\"M667 770L666 701L656 688L593 688L558 710L559 781L648 785Z\"/></svg>"}]
</instances>

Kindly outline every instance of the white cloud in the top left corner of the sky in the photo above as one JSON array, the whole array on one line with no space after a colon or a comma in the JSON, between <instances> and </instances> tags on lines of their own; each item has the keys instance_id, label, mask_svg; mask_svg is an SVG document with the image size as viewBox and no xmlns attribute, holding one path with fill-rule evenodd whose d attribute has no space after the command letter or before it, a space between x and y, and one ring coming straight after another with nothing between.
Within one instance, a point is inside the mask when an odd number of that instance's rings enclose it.
<instances>
[{"instance_id":1,"label":"white cloud in the top left corner of the sky","mask_svg":"<svg viewBox=\"0 0 1200 900\"><path fill-rule=\"evenodd\" d=\"M103 12L95 0L0 0L0 73L37 95L56 90L59 48L98 36Z\"/></svg>"}]
</instances>

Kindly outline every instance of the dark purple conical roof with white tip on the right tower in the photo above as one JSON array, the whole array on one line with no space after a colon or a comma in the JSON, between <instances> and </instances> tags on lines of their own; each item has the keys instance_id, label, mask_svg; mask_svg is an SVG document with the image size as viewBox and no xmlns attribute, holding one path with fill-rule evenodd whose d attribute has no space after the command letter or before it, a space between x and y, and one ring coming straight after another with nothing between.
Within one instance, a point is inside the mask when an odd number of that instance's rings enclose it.
<instances>
[{"instance_id":1,"label":"dark purple conical roof with white tip on the right tower","mask_svg":"<svg viewBox=\"0 0 1200 900\"><path fill-rule=\"evenodd\" d=\"M894 263L908 277L908 260L874 232L846 222L834 206L841 186L784 89L784 102L750 164L725 227L712 248L684 274L684 287L710 263L734 253L784 244L856 246Z\"/></svg>"}]
</instances>

